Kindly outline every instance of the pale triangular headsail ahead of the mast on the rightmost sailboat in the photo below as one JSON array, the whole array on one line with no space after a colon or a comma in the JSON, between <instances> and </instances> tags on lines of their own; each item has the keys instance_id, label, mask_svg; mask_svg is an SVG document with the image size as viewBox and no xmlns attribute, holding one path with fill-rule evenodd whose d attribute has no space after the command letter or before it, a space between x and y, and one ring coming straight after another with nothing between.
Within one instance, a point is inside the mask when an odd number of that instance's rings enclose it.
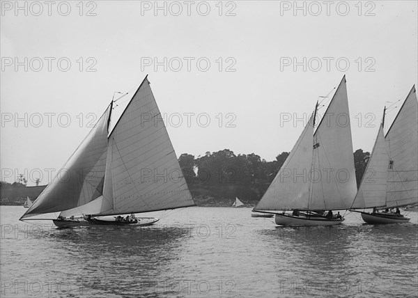
<instances>
[{"instance_id":1,"label":"pale triangular headsail ahead of the mast on the rightmost sailboat","mask_svg":"<svg viewBox=\"0 0 418 298\"><path fill-rule=\"evenodd\" d=\"M387 155L385 134L383 125L380 125L373 151L363 174L362 183L351 209L382 207L386 205L388 164L389 155Z\"/></svg>"}]
</instances>

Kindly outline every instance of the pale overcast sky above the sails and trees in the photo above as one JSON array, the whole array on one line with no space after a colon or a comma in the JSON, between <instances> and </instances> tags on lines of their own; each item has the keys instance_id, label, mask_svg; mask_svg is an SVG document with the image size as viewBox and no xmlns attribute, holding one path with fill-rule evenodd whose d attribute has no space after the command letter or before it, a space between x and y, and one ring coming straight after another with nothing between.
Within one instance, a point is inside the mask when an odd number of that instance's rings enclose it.
<instances>
[{"instance_id":1,"label":"pale overcast sky above the sails and trees","mask_svg":"<svg viewBox=\"0 0 418 298\"><path fill-rule=\"evenodd\" d=\"M332 96L343 75L353 150L373 148L385 102L403 102L418 81L417 1L19 6L1 1L8 182L24 173L33 185L42 173L47 184L48 169L61 168L114 92L134 91L147 74L178 156L228 148L268 161L293 148L304 126L293 120ZM389 109L387 128L396 111Z\"/></svg>"}]
</instances>

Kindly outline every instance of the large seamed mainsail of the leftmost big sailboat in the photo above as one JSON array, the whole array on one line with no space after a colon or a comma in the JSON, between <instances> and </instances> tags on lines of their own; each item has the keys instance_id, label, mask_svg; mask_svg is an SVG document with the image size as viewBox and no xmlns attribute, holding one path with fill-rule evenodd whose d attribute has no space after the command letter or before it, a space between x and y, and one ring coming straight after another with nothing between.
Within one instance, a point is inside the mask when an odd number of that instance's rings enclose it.
<instances>
[{"instance_id":1,"label":"large seamed mainsail of the leftmost big sailboat","mask_svg":"<svg viewBox=\"0 0 418 298\"><path fill-rule=\"evenodd\" d=\"M147 78L109 136L107 174L103 196L113 207L96 215L194 205Z\"/></svg>"}]
</instances>

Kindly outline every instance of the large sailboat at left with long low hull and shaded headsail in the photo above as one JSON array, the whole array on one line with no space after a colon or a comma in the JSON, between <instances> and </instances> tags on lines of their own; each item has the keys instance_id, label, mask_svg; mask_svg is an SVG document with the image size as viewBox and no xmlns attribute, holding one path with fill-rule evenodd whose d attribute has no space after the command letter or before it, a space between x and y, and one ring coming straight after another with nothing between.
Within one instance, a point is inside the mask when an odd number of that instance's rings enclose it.
<instances>
[{"instance_id":1,"label":"large sailboat at left with long low hull and shaded headsail","mask_svg":"<svg viewBox=\"0 0 418 298\"><path fill-rule=\"evenodd\" d=\"M158 219L121 215L194 205L148 78L109 131L112 107L20 220L61 212L60 228L150 225Z\"/></svg>"}]
</instances>

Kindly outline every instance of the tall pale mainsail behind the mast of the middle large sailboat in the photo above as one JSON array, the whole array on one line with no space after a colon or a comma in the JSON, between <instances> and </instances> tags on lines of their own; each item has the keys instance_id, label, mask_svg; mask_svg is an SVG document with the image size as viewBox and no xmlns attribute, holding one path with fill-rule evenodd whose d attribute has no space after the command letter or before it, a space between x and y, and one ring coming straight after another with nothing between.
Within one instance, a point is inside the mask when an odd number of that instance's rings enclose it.
<instances>
[{"instance_id":1,"label":"tall pale mainsail behind the mast of the middle large sailboat","mask_svg":"<svg viewBox=\"0 0 418 298\"><path fill-rule=\"evenodd\" d=\"M348 209L357 193L346 79L314 134L309 210Z\"/></svg>"}]
</instances>

